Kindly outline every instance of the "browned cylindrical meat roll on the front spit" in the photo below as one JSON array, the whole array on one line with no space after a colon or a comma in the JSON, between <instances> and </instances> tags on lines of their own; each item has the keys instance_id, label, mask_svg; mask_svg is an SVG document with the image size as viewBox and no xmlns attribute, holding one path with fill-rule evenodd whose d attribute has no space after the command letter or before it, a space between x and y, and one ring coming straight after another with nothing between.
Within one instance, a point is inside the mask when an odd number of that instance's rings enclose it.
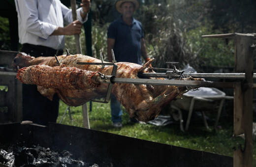
<instances>
[{"instance_id":1,"label":"browned cylindrical meat roll on the front spit","mask_svg":"<svg viewBox=\"0 0 256 167\"><path fill-rule=\"evenodd\" d=\"M22 83L70 90L94 89L100 84L97 77L99 77L98 72L65 67L65 65L56 67L32 65L20 69L17 73L17 78Z\"/></svg>"}]
</instances>

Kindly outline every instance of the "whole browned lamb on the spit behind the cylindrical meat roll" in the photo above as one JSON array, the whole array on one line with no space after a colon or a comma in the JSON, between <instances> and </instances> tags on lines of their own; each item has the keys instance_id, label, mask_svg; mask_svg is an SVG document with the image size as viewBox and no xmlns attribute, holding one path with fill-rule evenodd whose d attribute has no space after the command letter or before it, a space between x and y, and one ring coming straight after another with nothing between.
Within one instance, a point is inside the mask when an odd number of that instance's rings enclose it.
<instances>
[{"instance_id":1,"label":"whole browned lamb on the spit behind the cylindrical meat roll","mask_svg":"<svg viewBox=\"0 0 256 167\"><path fill-rule=\"evenodd\" d=\"M13 63L13 68L20 68L23 64L27 66L34 64L46 64L49 66L60 66L65 65L67 67L77 67L83 70L97 71L104 75L111 75L112 66L106 66L101 68L100 65L77 65L77 62L101 62L99 59L84 55L63 55L58 56L60 64L57 63L55 57L37 57L28 58L24 53L18 54L16 57L16 62ZM26 62L24 62L26 61ZM138 78L138 73L143 72L153 72L147 67L153 59L149 60L146 64L139 65L128 62L118 62L117 78ZM163 80L163 78L151 78L156 80ZM192 79L189 80L200 80ZM83 89L83 90L68 90L68 89L54 89L54 91L38 90L44 96L48 98L52 97L53 92L58 93L60 98L65 104L70 106L80 106L86 101L82 100L72 100L66 97L78 97L83 99L94 99L106 94L107 84L100 84L95 90ZM48 92L49 91L49 92ZM146 84L128 84L128 83L115 83L113 85L112 93L117 97L120 103L126 108L131 118L135 118L139 121L149 121L158 116L161 108L175 99L177 96L182 95L187 91L187 87L177 87L177 86L157 86L157 85L146 85Z\"/></svg>"}]
</instances>

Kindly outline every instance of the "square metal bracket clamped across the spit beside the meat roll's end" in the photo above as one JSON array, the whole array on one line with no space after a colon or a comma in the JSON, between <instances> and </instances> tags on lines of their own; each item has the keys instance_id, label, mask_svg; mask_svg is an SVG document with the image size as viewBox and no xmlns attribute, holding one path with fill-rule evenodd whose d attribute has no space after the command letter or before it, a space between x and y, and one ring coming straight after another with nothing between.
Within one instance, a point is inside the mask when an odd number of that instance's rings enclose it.
<instances>
[{"instance_id":1,"label":"square metal bracket clamped across the spit beside the meat roll's end","mask_svg":"<svg viewBox=\"0 0 256 167\"><path fill-rule=\"evenodd\" d=\"M107 88L107 94L105 96L104 101L93 100L93 99L81 99L81 98L75 98L75 97L66 97L66 98L67 99L74 99L74 100L87 100L87 101L99 102L99 103L108 103L109 99L110 99L111 91L112 91L112 88L113 88L113 84L114 84L114 83L111 82L111 78L114 78L116 76L117 64L115 64L115 63L96 63L96 62L77 62L76 64L79 64L79 65L102 65L102 66L113 65L113 69L112 69L112 73L111 73L110 78L108 78L107 76L105 76L101 73L100 73L100 77L99 77L101 82L104 83L104 81L105 81L105 83L109 83L108 88Z\"/></svg>"}]
</instances>

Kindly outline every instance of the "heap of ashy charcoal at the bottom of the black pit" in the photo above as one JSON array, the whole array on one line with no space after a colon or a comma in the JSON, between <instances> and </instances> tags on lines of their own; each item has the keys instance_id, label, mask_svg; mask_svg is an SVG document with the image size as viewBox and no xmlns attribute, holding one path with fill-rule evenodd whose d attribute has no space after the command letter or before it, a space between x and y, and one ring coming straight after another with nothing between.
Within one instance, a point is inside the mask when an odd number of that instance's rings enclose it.
<instances>
[{"instance_id":1,"label":"heap of ashy charcoal at the bottom of the black pit","mask_svg":"<svg viewBox=\"0 0 256 167\"><path fill-rule=\"evenodd\" d=\"M11 146L0 150L0 163L10 167L90 167L75 160L66 150L55 152L39 145L32 147ZM98 167L94 164L92 167Z\"/></svg>"}]
</instances>

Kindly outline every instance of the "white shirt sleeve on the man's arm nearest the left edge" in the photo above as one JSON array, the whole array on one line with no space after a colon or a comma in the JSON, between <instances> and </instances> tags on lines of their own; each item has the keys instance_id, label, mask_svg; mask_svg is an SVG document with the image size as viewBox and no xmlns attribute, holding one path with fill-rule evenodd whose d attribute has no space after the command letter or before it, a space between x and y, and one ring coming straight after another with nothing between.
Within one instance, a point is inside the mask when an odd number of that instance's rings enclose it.
<instances>
[{"instance_id":1,"label":"white shirt sleeve on the man's arm nearest the left edge","mask_svg":"<svg viewBox=\"0 0 256 167\"><path fill-rule=\"evenodd\" d=\"M21 24L26 31L47 39L49 35L57 28L56 25L42 22L38 18L38 10L36 0L15 0L18 15L20 15Z\"/></svg>"}]
</instances>

